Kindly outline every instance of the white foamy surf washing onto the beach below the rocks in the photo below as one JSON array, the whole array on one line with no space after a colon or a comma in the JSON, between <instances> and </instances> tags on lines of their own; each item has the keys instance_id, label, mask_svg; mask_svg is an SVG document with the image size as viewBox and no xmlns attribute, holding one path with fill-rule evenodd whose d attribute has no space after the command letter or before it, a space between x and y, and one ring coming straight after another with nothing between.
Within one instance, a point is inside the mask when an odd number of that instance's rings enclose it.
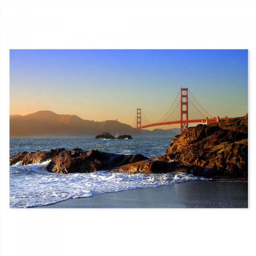
<instances>
[{"instance_id":1,"label":"white foamy surf washing onto the beach below the rocks","mask_svg":"<svg viewBox=\"0 0 256 256\"><path fill-rule=\"evenodd\" d=\"M64 175L48 172L45 168L48 163L10 166L10 207L34 207L106 192L207 180L186 173L126 174L100 171Z\"/></svg>"}]
</instances>

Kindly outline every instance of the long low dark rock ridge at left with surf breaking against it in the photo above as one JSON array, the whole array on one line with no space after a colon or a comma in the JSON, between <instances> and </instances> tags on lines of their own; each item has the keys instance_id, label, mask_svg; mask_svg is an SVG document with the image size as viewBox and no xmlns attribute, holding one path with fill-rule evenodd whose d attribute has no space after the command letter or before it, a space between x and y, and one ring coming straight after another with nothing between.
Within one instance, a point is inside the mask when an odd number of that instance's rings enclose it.
<instances>
[{"instance_id":1,"label":"long low dark rock ridge at left with surf breaking against it","mask_svg":"<svg viewBox=\"0 0 256 256\"><path fill-rule=\"evenodd\" d=\"M20 162L22 165L51 160L47 165L49 172L74 173L97 172L109 170L122 165L147 160L142 154L123 155L101 152L98 150L83 151L81 148L64 150L56 148L49 151L19 152L10 157L10 164Z\"/></svg>"}]
</instances>

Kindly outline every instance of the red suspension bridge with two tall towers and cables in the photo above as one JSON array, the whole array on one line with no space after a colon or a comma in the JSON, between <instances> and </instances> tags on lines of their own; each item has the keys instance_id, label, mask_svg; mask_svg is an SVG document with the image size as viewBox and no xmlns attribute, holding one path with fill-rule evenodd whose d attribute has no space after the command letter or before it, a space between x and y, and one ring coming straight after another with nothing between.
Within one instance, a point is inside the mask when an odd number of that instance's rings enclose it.
<instances>
[{"instance_id":1,"label":"red suspension bridge with two tall towers and cables","mask_svg":"<svg viewBox=\"0 0 256 256\"><path fill-rule=\"evenodd\" d=\"M195 99L188 88L180 88L174 102L172 103L166 114L157 122L151 122L142 112L141 108L137 108L134 116L133 127L137 131L158 125L180 124L180 134L189 127L189 123L212 123L219 120L233 119L234 117L212 117ZM135 122L136 120L136 122ZM143 121L143 122L142 122Z\"/></svg>"}]
</instances>

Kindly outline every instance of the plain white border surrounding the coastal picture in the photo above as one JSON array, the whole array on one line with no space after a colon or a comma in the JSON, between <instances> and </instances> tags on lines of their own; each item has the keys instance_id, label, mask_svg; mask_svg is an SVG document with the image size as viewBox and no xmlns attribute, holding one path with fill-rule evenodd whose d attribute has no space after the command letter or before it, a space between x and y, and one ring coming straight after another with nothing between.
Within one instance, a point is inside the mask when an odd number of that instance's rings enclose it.
<instances>
[{"instance_id":1,"label":"plain white border surrounding the coastal picture","mask_svg":"<svg viewBox=\"0 0 256 256\"><path fill-rule=\"evenodd\" d=\"M255 1L0 4L1 255L255 253ZM9 49L249 49L250 208L9 209Z\"/></svg>"}]
</instances>

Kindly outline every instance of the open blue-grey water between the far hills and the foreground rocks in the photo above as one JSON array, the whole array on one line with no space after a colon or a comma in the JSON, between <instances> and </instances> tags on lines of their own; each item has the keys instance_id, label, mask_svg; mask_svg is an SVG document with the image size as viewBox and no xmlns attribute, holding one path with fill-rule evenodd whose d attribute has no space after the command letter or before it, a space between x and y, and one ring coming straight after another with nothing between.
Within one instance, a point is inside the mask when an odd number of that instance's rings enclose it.
<instances>
[{"instance_id":1,"label":"open blue-grey water between the far hills and the foreground rocks","mask_svg":"<svg viewBox=\"0 0 256 256\"><path fill-rule=\"evenodd\" d=\"M134 137L133 140L102 140L94 137L10 138L10 155L19 151L82 148L116 154L140 153L146 157L157 157L166 152L171 140L172 137Z\"/></svg>"}]
</instances>

